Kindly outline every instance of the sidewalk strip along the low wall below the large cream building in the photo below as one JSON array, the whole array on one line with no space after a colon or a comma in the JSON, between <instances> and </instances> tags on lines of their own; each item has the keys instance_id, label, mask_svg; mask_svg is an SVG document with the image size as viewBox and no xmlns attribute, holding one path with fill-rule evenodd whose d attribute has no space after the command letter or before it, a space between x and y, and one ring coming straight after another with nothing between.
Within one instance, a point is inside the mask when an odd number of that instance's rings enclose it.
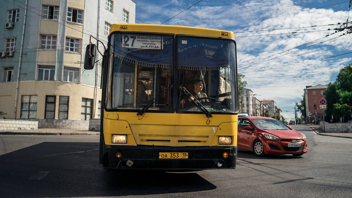
<instances>
[{"instance_id":1,"label":"sidewalk strip along the low wall below the large cream building","mask_svg":"<svg viewBox=\"0 0 352 198\"><path fill-rule=\"evenodd\" d=\"M100 135L99 131L87 129L37 129L37 130L4 130L0 135Z\"/></svg>"}]
</instances>

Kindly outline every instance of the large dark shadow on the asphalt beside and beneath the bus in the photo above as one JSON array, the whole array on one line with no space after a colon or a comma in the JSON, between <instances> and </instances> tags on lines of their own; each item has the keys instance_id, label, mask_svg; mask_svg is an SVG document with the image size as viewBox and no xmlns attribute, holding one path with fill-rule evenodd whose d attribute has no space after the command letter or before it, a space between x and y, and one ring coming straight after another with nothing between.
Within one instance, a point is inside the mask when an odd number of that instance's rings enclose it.
<instances>
[{"instance_id":1,"label":"large dark shadow on the asphalt beside and beneath the bus","mask_svg":"<svg viewBox=\"0 0 352 198\"><path fill-rule=\"evenodd\" d=\"M1 197L104 197L213 190L196 172L102 169L99 143L44 142L0 156Z\"/></svg>"}]
</instances>

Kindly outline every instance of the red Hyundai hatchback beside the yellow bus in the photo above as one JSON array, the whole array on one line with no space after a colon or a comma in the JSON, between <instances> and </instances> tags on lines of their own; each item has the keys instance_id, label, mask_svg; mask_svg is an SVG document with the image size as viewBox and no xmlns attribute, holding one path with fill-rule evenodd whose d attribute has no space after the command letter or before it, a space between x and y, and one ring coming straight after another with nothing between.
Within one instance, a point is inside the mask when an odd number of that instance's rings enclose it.
<instances>
[{"instance_id":1,"label":"red Hyundai hatchback beside the yellow bus","mask_svg":"<svg viewBox=\"0 0 352 198\"><path fill-rule=\"evenodd\" d=\"M251 150L257 156L265 153L301 156L308 151L306 135L267 117L238 118L237 148Z\"/></svg>"}]
</instances>

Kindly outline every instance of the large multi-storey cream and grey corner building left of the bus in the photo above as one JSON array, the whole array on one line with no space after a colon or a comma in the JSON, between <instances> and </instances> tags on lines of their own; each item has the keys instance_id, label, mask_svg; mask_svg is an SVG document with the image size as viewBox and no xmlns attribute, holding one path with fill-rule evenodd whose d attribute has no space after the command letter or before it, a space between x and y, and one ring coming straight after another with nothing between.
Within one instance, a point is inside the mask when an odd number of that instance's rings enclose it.
<instances>
[{"instance_id":1,"label":"large multi-storey cream and grey corner building left of the bus","mask_svg":"<svg viewBox=\"0 0 352 198\"><path fill-rule=\"evenodd\" d=\"M84 70L86 45L92 35L106 46L111 24L135 23L136 3L17 0L1 5L0 111L7 113L4 117L39 120L39 128L53 120L100 118L102 57L98 53L95 69ZM104 50L101 43L98 49Z\"/></svg>"}]
</instances>

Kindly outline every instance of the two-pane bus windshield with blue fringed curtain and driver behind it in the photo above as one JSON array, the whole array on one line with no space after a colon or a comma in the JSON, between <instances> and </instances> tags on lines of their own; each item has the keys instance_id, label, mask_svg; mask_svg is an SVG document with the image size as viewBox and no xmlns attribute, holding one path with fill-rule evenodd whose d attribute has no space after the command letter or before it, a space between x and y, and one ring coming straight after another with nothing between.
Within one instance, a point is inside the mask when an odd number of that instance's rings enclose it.
<instances>
[{"instance_id":1,"label":"two-pane bus windshield with blue fringed curtain and driver behind it","mask_svg":"<svg viewBox=\"0 0 352 198\"><path fill-rule=\"evenodd\" d=\"M108 51L107 109L237 111L232 39L117 32Z\"/></svg>"}]
</instances>

